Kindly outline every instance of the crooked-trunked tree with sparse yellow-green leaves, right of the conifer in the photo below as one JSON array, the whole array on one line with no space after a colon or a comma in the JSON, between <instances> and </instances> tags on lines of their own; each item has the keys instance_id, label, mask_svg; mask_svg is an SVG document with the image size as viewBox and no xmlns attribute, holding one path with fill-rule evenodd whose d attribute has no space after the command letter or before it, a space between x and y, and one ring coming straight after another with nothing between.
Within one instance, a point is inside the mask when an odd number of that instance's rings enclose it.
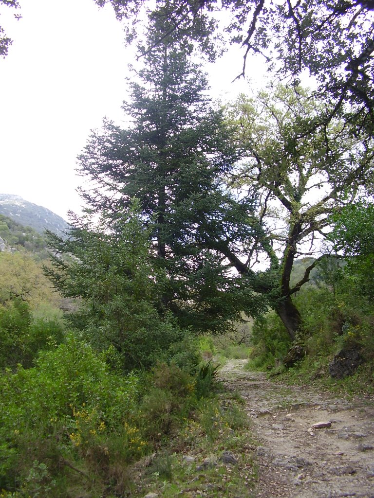
<instances>
[{"instance_id":1,"label":"crooked-trunked tree with sparse yellow-green leaves, right of the conifer","mask_svg":"<svg viewBox=\"0 0 374 498\"><path fill-rule=\"evenodd\" d=\"M238 141L246 156L232 185L259 199L258 231L241 254L222 252L243 274L252 272L254 263L267 262L267 292L292 338L301 318L291 296L309 280L318 259L291 285L294 261L318 258L330 215L355 200L373 175L373 140L355 134L343 119L326 121L329 113L306 90L282 86L256 99L241 96L228 111L240 125Z\"/></svg>"}]
</instances>

